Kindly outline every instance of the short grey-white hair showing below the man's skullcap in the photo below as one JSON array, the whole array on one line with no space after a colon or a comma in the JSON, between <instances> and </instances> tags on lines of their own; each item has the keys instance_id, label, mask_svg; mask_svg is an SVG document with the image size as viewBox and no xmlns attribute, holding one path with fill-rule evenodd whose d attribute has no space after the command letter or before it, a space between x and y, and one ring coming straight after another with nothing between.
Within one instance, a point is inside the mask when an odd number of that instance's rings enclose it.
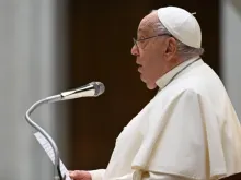
<instances>
[{"instance_id":1,"label":"short grey-white hair showing below the man's skullcap","mask_svg":"<svg viewBox=\"0 0 241 180\"><path fill-rule=\"evenodd\" d=\"M153 10L151 12L156 12L156 11L157 10ZM163 24L160 21L154 22L153 27L154 27L154 32L157 32L158 34L168 34L168 35L172 36L172 34L163 26ZM190 47L190 46L183 44L182 41L180 41L179 39L176 39L176 43L177 43L176 52L179 56L181 56L185 60L193 58L193 57L196 57L196 56L202 56L204 53L203 48Z\"/></svg>"}]
</instances>

